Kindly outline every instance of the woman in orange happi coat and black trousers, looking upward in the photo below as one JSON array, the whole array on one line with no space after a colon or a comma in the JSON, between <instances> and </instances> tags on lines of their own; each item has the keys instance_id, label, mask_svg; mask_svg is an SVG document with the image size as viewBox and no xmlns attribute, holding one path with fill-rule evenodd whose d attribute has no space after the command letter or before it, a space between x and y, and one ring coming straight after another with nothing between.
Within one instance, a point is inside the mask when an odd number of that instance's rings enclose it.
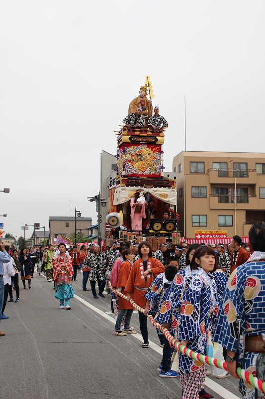
<instances>
[{"instance_id":1,"label":"woman in orange happi coat and black trousers, looking upward","mask_svg":"<svg viewBox=\"0 0 265 399\"><path fill-rule=\"evenodd\" d=\"M146 298L144 295L156 276L164 272L165 267L159 260L152 258L152 248L147 241L140 242L138 253L140 259L136 260L132 265L125 291L128 293L127 301L131 299L130 294L133 294L134 302L141 308L145 308ZM138 314L140 330L144 340L142 348L148 348L147 316L141 312L138 312Z\"/></svg>"}]
</instances>

